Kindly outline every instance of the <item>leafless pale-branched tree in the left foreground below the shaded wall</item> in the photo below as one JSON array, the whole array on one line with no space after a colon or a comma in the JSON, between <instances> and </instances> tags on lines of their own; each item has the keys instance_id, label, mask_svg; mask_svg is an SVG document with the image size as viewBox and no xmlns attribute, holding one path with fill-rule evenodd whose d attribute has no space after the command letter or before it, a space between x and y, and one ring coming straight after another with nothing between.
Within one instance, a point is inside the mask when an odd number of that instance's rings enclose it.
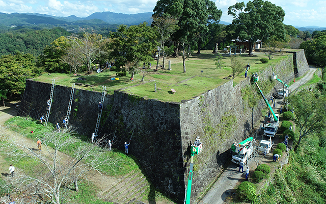
<instances>
[{"instance_id":1,"label":"leafless pale-branched tree in the left foreground below the shaded wall","mask_svg":"<svg viewBox=\"0 0 326 204\"><path fill-rule=\"evenodd\" d=\"M95 144L83 145L73 137L67 136L69 130L64 129L62 133L44 133L42 140L42 151L35 151L26 146L21 138L7 138L12 143L7 143L6 152L10 157L16 159L30 158L39 163L34 173L23 173L17 171L11 180L17 189L28 190L24 193L38 195L39 199L47 197L51 203L60 204L66 198L67 193L63 191L64 185L74 184L78 190L77 181L89 170L99 171L101 165L116 165L117 159L107 157ZM20 149L17 148L20 147ZM45 146L45 148L44 148ZM73 157L62 154L62 149L71 149Z\"/></svg>"}]
</instances>

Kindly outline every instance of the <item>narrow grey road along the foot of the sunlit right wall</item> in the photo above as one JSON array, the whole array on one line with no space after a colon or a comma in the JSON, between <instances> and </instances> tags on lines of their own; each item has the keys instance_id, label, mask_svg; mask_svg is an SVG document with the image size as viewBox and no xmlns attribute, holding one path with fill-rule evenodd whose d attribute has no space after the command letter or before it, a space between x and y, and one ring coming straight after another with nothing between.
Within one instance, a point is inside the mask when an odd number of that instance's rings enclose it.
<instances>
[{"instance_id":1,"label":"narrow grey road along the foot of the sunlit right wall","mask_svg":"<svg viewBox=\"0 0 326 204\"><path fill-rule=\"evenodd\" d=\"M300 87L301 85L305 84L309 80L312 79L314 72L317 69L315 67L310 67L310 70L306 73L305 77L302 79L296 81L294 84L292 84L289 87L289 90L294 90L297 87ZM276 100L276 107L273 108L274 111L277 111L281 107L281 99ZM279 138L279 137L277 137ZM273 139L275 141L274 145L277 145L281 141L276 141L277 138ZM257 140L259 141L259 140ZM259 142L258 142L259 143ZM273 147L275 148L275 147ZM262 163L270 165L273 160L273 156L269 154L266 158L263 159ZM286 158L284 158L286 160ZM282 159L283 161L283 159ZM251 159L248 162L248 166L250 168L250 175L254 171L254 169L257 167L256 163L253 159ZM244 166L244 169L246 166ZM200 204L222 204L226 203L225 200L227 197L232 196L232 192L235 192L235 188L240 182L243 182L245 180L245 176L242 172L239 172L239 165L236 165L232 162L230 162L229 166L223 171L223 173L220 175L219 179L215 182L213 187L208 191L208 193L205 195L204 198L202 198L199 203Z\"/></svg>"}]
</instances>

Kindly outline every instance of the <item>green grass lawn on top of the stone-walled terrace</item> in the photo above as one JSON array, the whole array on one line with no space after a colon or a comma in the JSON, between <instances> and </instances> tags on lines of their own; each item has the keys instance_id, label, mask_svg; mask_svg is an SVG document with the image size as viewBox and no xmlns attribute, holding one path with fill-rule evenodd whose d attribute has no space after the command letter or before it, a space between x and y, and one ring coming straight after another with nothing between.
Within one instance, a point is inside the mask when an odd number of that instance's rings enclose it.
<instances>
[{"instance_id":1,"label":"green grass lawn on top of the stone-walled terrace","mask_svg":"<svg viewBox=\"0 0 326 204\"><path fill-rule=\"evenodd\" d=\"M240 60L243 62L243 66L246 66L248 63L251 65L248 75L271 64L275 64L281 59L286 58L288 55L291 55L287 53L275 54L273 55L272 60L263 64L260 62L260 59L267 57L263 53L254 54L255 56L253 57L249 57L247 54L238 55ZM72 83L91 84L94 85L94 87L76 86L76 88L91 91L102 91L101 86L104 85L106 86L108 94L113 94L114 90L123 89L130 94L135 94L145 98L180 102L183 99L191 99L194 96L199 96L201 93L216 88L228 81L223 78L232 74L231 58L227 54L223 54L223 56L225 67L222 69L216 68L214 61L216 55L212 54L212 50L203 50L201 55L193 55L186 60L185 73L183 73L181 57L167 58L166 69L168 68L168 61L170 60L172 70L158 69L155 71L153 68L156 67L156 61L152 61L152 69L144 70L147 74L144 78L144 82L141 82L143 77L142 72L135 75L134 81L130 81L129 74L127 74L127 77L120 77L119 80L111 80L111 78L116 77L116 72L109 70L90 75L80 73L81 76L61 73L44 73L33 80L51 83L52 79L56 79L56 84L63 86L71 86ZM161 64L161 60L159 63ZM85 78L86 81L79 81L78 78L80 77ZM238 84L244 79L243 71L243 73L233 80L233 83ZM154 91L154 83L156 83L157 92ZM172 94L172 91L170 90L171 88L176 90L175 94Z\"/></svg>"}]
</instances>

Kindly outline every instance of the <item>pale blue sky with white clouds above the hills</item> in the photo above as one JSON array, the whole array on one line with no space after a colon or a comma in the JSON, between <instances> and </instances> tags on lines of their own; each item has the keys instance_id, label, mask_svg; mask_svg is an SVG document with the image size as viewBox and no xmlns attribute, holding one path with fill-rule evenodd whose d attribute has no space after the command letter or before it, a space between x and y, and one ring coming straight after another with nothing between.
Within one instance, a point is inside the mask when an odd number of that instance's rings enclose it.
<instances>
[{"instance_id":1,"label":"pale blue sky with white clouds above the hills","mask_svg":"<svg viewBox=\"0 0 326 204\"><path fill-rule=\"evenodd\" d=\"M211 0L223 11L221 20L232 22L229 6L236 0ZM248 1L243 1L247 3ZM318 0L269 0L285 11L284 23L294 27L315 25L326 28L326 1ZM2 13L40 13L52 16L87 17L95 12L135 14L153 12L156 0L0 0Z\"/></svg>"}]
</instances>

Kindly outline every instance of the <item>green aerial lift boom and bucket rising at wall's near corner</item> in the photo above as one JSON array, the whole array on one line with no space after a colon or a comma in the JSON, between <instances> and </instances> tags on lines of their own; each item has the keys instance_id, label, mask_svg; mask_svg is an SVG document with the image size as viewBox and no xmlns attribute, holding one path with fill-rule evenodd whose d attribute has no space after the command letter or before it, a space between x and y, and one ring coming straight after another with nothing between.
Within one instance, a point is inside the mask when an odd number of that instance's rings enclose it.
<instances>
[{"instance_id":1,"label":"green aerial lift boom and bucket rising at wall's near corner","mask_svg":"<svg viewBox=\"0 0 326 204\"><path fill-rule=\"evenodd\" d=\"M193 168L194 168L194 156L198 155L202 151L203 143L199 141L199 138L196 139L196 142L192 144L190 147L191 151L191 160L190 160L190 167L189 167L189 176L188 176L188 185L185 194L184 203L190 203L190 197L192 193L192 182L193 182Z\"/></svg>"}]
</instances>

